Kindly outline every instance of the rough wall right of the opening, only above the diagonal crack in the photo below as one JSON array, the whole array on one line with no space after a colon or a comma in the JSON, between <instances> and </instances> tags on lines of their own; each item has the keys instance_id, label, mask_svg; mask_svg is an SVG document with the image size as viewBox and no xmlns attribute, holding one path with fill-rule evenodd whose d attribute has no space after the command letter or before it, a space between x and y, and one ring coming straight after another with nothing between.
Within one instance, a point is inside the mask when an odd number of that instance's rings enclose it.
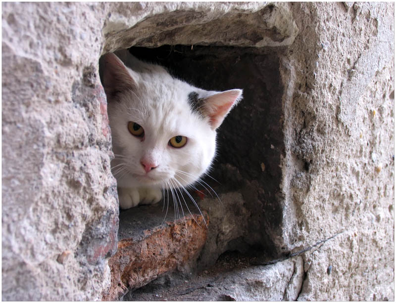
<instances>
[{"instance_id":1,"label":"rough wall right of the opening, only above the diagonal crack","mask_svg":"<svg viewBox=\"0 0 396 303\"><path fill-rule=\"evenodd\" d=\"M289 50L294 57L285 58L285 80L297 86L284 99L293 110L285 112L287 130L294 132L287 137L291 159L286 162L292 164L294 158L300 163L300 169L296 165L284 180L287 208L295 214L285 222L283 237L290 246L298 248L359 226L367 212L377 216L392 204L393 25L387 22L385 8L393 5L384 5L361 4L357 11L346 11L340 3L313 5L310 12L317 24L338 20L339 27L319 31L300 26L303 39ZM346 27L353 42L344 38ZM294 48L302 49L297 54ZM378 165L383 166L380 173ZM393 220L393 213L387 217Z\"/></svg>"}]
</instances>

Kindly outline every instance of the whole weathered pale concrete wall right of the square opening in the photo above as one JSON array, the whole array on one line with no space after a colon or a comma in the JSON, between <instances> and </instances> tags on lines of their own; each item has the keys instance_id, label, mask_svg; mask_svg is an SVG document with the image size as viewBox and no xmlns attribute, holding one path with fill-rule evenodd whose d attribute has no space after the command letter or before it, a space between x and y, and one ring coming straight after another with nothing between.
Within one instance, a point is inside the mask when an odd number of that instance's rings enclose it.
<instances>
[{"instance_id":1,"label":"whole weathered pale concrete wall right of the square opening","mask_svg":"<svg viewBox=\"0 0 396 303\"><path fill-rule=\"evenodd\" d=\"M304 254L299 299L394 300L394 5L293 10L283 238L296 252L333 237Z\"/></svg>"}]
</instances>

